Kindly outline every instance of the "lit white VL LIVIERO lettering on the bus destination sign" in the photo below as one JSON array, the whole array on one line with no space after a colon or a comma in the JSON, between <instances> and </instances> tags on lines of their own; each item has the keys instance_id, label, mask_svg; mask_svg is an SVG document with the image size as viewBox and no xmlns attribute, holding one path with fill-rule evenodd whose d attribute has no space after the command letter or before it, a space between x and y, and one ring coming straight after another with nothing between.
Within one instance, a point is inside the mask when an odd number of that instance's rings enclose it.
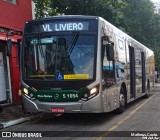
<instances>
[{"instance_id":1,"label":"lit white VL LIVIERO lettering on the bus destination sign","mask_svg":"<svg viewBox=\"0 0 160 140\"><path fill-rule=\"evenodd\" d=\"M51 31L83 31L88 30L88 22L55 22L42 25L44 32Z\"/></svg>"}]
</instances>

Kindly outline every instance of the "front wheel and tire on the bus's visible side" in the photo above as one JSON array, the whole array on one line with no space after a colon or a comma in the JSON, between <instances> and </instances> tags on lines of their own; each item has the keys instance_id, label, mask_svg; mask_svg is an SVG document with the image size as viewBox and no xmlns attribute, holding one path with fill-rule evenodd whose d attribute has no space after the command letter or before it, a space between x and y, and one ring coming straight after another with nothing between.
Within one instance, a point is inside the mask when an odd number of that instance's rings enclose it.
<instances>
[{"instance_id":1,"label":"front wheel and tire on the bus's visible side","mask_svg":"<svg viewBox=\"0 0 160 140\"><path fill-rule=\"evenodd\" d=\"M126 95L123 87L120 90L119 94L119 108L116 110L116 113L121 114L126 108Z\"/></svg>"}]
</instances>

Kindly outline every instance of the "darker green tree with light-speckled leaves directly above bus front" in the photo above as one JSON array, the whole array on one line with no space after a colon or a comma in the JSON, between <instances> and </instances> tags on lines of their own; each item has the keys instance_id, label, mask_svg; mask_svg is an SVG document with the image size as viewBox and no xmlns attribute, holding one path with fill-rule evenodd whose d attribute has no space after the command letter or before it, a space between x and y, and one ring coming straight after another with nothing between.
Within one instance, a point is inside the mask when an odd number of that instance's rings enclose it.
<instances>
[{"instance_id":1,"label":"darker green tree with light-speckled leaves directly above bus front","mask_svg":"<svg viewBox=\"0 0 160 140\"><path fill-rule=\"evenodd\" d=\"M122 0L34 0L36 4L36 18L65 15L94 15L101 16L118 25L123 17L121 9L125 7Z\"/></svg>"}]
</instances>

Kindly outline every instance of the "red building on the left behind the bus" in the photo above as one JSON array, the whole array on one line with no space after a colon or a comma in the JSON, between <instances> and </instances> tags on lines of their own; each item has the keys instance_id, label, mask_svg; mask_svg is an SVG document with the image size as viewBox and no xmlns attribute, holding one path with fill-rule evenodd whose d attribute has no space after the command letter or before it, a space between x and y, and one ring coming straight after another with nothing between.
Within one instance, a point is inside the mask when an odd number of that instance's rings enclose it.
<instances>
[{"instance_id":1,"label":"red building on the left behind the bus","mask_svg":"<svg viewBox=\"0 0 160 140\"><path fill-rule=\"evenodd\" d=\"M18 49L16 43L19 35L12 39L11 56L7 56L7 32L17 30L23 32L26 21L33 17L32 0L0 0L0 104L20 104L18 95L20 71Z\"/></svg>"}]
</instances>

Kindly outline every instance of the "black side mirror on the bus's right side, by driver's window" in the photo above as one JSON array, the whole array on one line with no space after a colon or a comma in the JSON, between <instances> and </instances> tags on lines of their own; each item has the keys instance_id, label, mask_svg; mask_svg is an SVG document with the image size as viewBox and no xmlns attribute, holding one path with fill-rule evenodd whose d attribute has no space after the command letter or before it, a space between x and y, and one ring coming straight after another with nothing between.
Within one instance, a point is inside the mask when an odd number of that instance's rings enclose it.
<instances>
[{"instance_id":1,"label":"black side mirror on the bus's right side, by driver's window","mask_svg":"<svg viewBox=\"0 0 160 140\"><path fill-rule=\"evenodd\" d=\"M106 54L108 61L114 60L114 47L113 44L107 44L106 45Z\"/></svg>"}]
</instances>

